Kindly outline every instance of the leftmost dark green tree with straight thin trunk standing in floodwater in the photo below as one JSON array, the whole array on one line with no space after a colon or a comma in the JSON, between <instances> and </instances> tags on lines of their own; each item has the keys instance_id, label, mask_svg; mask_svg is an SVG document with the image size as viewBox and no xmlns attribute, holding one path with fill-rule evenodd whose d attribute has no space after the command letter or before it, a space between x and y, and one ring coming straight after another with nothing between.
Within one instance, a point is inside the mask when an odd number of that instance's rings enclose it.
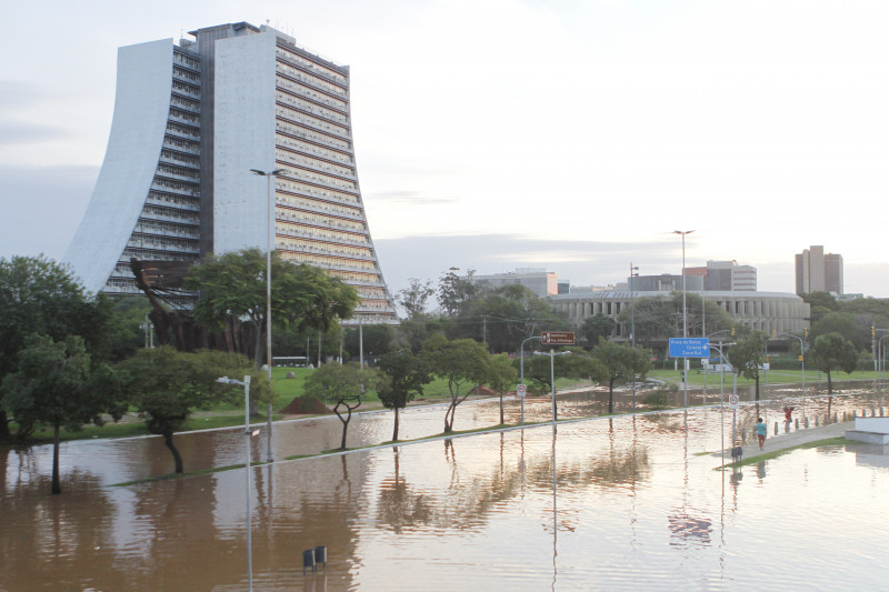
<instances>
[{"instance_id":1,"label":"leftmost dark green tree with straight thin trunk standing in floodwater","mask_svg":"<svg viewBox=\"0 0 889 592\"><path fill-rule=\"evenodd\" d=\"M104 378L107 368L97 372ZM111 394L111 397L107 397ZM61 493L59 480L59 438L62 427L79 430L84 423L102 425L102 413L114 421L126 411L119 391L97 388L90 370L90 355L83 340L70 335L56 342L50 337L32 333L19 351L18 372L2 383L4 404L16 421L32 428L36 423L52 425L52 493Z\"/></svg>"}]
</instances>

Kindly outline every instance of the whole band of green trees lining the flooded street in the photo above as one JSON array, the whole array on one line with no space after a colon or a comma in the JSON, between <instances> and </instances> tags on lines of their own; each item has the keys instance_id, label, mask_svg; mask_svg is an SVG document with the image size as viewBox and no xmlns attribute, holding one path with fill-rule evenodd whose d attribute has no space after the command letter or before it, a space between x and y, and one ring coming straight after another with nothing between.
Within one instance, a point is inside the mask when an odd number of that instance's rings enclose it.
<instances>
[{"instance_id":1,"label":"whole band of green trees lining the flooded street","mask_svg":"<svg viewBox=\"0 0 889 592\"><path fill-rule=\"evenodd\" d=\"M412 279L397 294L406 313L400 327L363 327L363 351L372 368L361 369L347 363L358 360L358 331L340 323L359 302L356 290L318 268L288 263L273 254L273 350L282 357L313 357L319 368L307 381L304 395L332 407L343 424L342 446L352 412L368 389L393 410L393 440L398 440L399 410L423 395L433 378L443 380L449 401L443 431L449 433L455 430L458 407L478 387L487 384L500 393L502 403L502 393L518 380L521 343L539 338L541 331L575 329L565 314L525 287L492 288L472 281L472 270L459 271L448 270L437 285ZM252 363L239 354L147 348L144 299L112 302L102 294L87 294L70 270L42 255L0 259L4 310L0 317L0 440L26 441L46 425L53 431L58 455L61 428L77 430L131 412L139 414L149 432L163 438L174 470L182 472L173 434L193 411L234 404L238 398L237 389L216 379L250 374L251 394L269 401L273 393L259 372L268 313L264 254L244 250L209 257L192 268L187 287L200 292L193 313L202 327L218 329L232 315L256 327ZM708 333L737 330L728 348L729 361L737 372L758 382L768 338L735 327L715 303L687 295L690 334L703 332L705 318ZM861 363L867 345L867 334L865 340L860 334L862 322L886 327L889 307L872 299L837 303L810 297L807 365L827 372L830 384L831 372L850 371ZM617 322L626 325L629 313L622 311ZM652 349L681 334L681 294L639 299L635 323L637 341L646 347L610 340L617 328L610 318L588 319L578 330L580 344L562 348L572 354L552 360L556 374L607 385L609 412L613 412L615 387L641 380L650 370ZM790 341L790 353L795 341ZM551 389L550 359L530 355L536 348L539 342L523 352L531 394ZM326 354L343 364L322 364ZM53 473L57 492L58 468Z\"/></svg>"}]
</instances>

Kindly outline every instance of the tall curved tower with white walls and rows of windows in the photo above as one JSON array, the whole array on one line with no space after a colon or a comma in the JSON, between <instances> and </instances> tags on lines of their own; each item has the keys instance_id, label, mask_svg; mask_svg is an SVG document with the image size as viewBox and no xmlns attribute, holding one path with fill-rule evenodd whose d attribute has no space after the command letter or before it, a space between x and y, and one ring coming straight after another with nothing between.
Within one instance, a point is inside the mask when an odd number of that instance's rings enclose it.
<instances>
[{"instance_id":1,"label":"tall curved tower with white walls and rows of windows","mask_svg":"<svg viewBox=\"0 0 889 592\"><path fill-rule=\"evenodd\" d=\"M273 193L282 258L353 285L361 322L394 322L356 171L349 68L266 26L190 34L120 48L104 162L64 261L90 291L139 293L131 257L264 251Z\"/></svg>"}]
</instances>

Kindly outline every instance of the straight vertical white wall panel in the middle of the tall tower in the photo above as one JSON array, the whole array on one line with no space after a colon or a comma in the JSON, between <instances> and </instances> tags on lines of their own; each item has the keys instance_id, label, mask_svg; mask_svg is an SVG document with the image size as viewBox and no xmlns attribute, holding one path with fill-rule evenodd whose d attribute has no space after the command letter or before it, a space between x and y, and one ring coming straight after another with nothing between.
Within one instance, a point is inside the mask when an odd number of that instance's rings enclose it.
<instances>
[{"instance_id":1,"label":"straight vertical white wall panel in the middle of the tall tower","mask_svg":"<svg viewBox=\"0 0 889 592\"><path fill-rule=\"evenodd\" d=\"M250 169L274 169L273 33L216 44L213 249L268 248L269 190Z\"/></svg>"}]
</instances>

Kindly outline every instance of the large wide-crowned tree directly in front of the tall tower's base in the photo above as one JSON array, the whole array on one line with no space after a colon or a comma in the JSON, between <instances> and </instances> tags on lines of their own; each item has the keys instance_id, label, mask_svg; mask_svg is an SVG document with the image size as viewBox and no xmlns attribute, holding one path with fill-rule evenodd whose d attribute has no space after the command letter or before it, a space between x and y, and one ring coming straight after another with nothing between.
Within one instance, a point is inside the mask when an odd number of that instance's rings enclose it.
<instances>
[{"instance_id":1,"label":"large wide-crowned tree directly in front of the tall tower's base","mask_svg":"<svg viewBox=\"0 0 889 592\"><path fill-rule=\"evenodd\" d=\"M192 267L186 288L200 291L194 318L218 329L228 315L247 317L257 328L254 368L262 367L267 325L267 261L259 249L208 255ZM276 327L327 331L336 319L351 317L358 292L308 263L271 257L271 308Z\"/></svg>"}]
</instances>

